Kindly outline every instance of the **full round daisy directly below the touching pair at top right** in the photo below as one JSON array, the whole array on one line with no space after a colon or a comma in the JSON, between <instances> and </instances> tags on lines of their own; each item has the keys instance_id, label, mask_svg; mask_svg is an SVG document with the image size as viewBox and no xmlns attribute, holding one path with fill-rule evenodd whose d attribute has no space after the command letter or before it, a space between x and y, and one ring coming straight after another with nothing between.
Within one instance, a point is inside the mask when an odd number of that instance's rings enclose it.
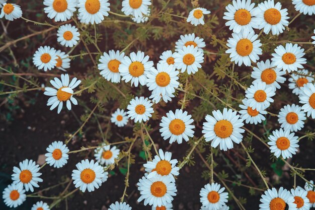
<instances>
[{"instance_id":1,"label":"full round daisy directly below the touching pair at top right","mask_svg":"<svg viewBox=\"0 0 315 210\"><path fill-rule=\"evenodd\" d=\"M233 1L234 2L234 1ZM251 65L251 61L256 62L262 54L260 48L262 44L257 39L258 35L255 31L248 29L242 30L240 33L232 33L232 37L227 40L227 49L225 52L230 54L231 61L241 66L243 63L246 66Z\"/></svg>"}]
</instances>

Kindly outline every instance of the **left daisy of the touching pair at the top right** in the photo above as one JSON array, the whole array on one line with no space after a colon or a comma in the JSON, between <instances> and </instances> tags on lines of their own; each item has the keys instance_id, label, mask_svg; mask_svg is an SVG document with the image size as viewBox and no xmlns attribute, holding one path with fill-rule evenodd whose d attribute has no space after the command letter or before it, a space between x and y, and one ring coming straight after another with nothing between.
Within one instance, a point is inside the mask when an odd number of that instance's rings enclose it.
<instances>
[{"instance_id":1,"label":"left daisy of the touching pair at the top right","mask_svg":"<svg viewBox=\"0 0 315 210\"><path fill-rule=\"evenodd\" d=\"M234 33L240 33L242 29L253 31L253 28L258 28L259 21L255 16L259 11L254 7L255 4L251 4L251 0L233 0L232 5L225 7L227 12L224 13L223 19L228 20L225 25Z\"/></svg>"}]
</instances>

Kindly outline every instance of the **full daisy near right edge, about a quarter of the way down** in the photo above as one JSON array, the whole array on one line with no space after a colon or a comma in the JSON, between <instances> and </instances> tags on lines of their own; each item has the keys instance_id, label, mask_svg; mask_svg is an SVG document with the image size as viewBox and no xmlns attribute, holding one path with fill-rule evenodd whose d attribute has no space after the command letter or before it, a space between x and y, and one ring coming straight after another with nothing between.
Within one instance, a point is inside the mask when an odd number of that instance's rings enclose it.
<instances>
[{"instance_id":1,"label":"full daisy near right edge, about a quarter of the way down","mask_svg":"<svg viewBox=\"0 0 315 210\"><path fill-rule=\"evenodd\" d=\"M277 46L275 53L272 53L271 60L278 68L284 71L297 71L297 68L303 68L302 64L306 63L304 49L297 44L287 43L285 48L282 45Z\"/></svg>"}]
</instances>

